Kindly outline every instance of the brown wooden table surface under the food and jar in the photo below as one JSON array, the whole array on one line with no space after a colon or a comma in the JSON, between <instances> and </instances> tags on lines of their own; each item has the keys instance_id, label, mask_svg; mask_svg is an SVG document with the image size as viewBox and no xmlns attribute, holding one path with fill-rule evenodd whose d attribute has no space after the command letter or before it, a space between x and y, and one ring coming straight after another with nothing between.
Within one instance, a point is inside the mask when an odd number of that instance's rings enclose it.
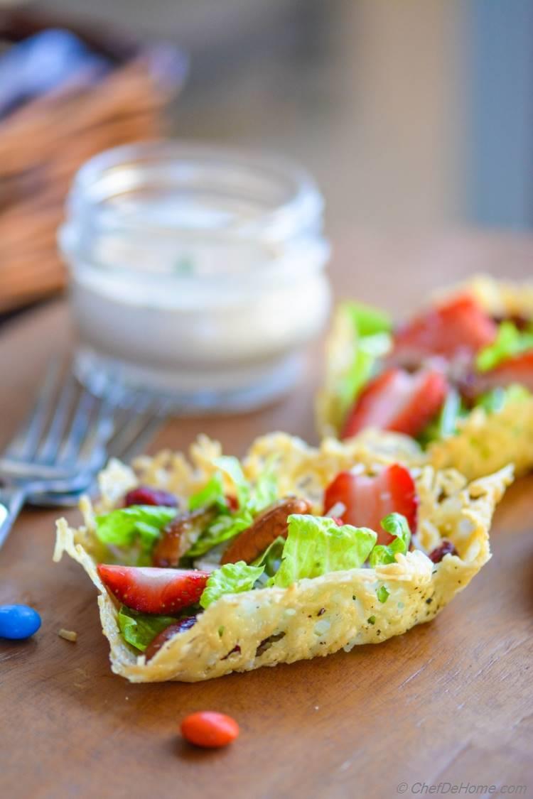
<instances>
[{"instance_id":1,"label":"brown wooden table surface under the food and jar","mask_svg":"<svg viewBox=\"0 0 533 799\"><path fill-rule=\"evenodd\" d=\"M336 241L332 276L337 292L401 314L438 284L482 268L523 277L532 263L531 240L352 232ZM62 304L2 330L4 439L46 358L71 338ZM200 431L236 454L276 428L313 439L319 373L315 350L288 400L239 419L173 421L153 448L186 447ZM74 562L51 562L55 512L26 511L0 553L0 601L28 602L43 624L29 642L0 644L0 796L390 797L404 784L405 795L426 795L424 782L529 782L531 793L531 487L531 478L511 487L494 558L435 622L351 654L196 685L134 686L111 674L93 586ZM58 638L61 627L78 642ZM200 709L237 718L237 743L211 753L184 745L179 722Z\"/></svg>"}]
</instances>

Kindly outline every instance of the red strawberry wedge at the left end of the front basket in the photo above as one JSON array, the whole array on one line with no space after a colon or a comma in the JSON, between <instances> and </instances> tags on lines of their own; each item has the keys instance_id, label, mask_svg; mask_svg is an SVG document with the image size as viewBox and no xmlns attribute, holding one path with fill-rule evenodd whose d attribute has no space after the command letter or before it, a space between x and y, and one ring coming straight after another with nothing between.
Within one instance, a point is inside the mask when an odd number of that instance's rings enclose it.
<instances>
[{"instance_id":1,"label":"red strawberry wedge at the left end of the front basket","mask_svg":"<svg viewBox=\"0 0 533 799\"><path fill-rule=\"evenodd\" d=\"M123 605L142 613L171 614L201 597L207 571L157 569L154 566L106 566L99 563L101 581Z\"/></svg>"}]
</instances>

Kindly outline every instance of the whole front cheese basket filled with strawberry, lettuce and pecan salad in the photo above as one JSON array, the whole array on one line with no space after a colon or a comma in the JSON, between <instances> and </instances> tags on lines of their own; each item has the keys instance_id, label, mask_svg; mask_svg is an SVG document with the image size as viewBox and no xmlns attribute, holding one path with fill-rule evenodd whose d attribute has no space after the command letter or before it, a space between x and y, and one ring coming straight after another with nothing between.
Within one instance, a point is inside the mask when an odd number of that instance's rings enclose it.
<instances>
[{"instance_id":1,"label":"whole front cheese basket filled with strawberry, lettuce and pecan salad","mask_svg":"<svg viewBox=\"0 0 533 799\"><path fill-rule=\"evenodd\" d=\"M114 461L85 525L58 521L101 591L113 670L193 681L380 642L425 622L490 557L511 469L467 486L356 443L272 434L241 463L201 439L191 462Z\"/></svg>"}]
</instances>

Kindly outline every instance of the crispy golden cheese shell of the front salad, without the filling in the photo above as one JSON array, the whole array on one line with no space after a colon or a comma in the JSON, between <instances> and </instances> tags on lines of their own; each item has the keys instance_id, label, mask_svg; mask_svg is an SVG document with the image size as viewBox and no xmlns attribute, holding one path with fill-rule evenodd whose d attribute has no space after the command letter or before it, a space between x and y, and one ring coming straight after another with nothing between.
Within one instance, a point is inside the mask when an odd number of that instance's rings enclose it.
<instances>
[{"instance_id":1,"label":"crispy golden cheese shell of the front salad, without the filling","mask_svg":"<svg viewBox=\"0 0 533 799\"><path fill-rule=\"evenodd\" d=\"M265 463L274 462L279 494L305 497L312 512L320 514L324 487L340 471L355 467L365 475L376 475L394 459L394 436L377 437L375 443L371 450L356 439L344 444L327 439L316 449L276 433L257 439L242 466L253 483ZM125 491L139 483L171 491L186 501L217 471L220 456L220 444L201 437L191 447L190 459L164 451L139 459L134 469L113 461L100 477L99 510L117 507ZM329 571L286 588L261 587L221 596L191 629L170 638L148 662L122 638L119 603L97 572L99 542L88 499L81 506L82 527L74 529L59 519L54 559L66 552L97 586L113 671L131 682L196 682L348 651L431 621L491 557L489 528L495 504L511 483L511 467L473 483L457 471L436 471L431 466L413 469L412 476L419 503L412 551L376 568ZM453 544L456 554L432 562L427 553L443 539ZM378 598L380 589L386 590L386 601L383 595Z\"/></svg>"}]
</instances>

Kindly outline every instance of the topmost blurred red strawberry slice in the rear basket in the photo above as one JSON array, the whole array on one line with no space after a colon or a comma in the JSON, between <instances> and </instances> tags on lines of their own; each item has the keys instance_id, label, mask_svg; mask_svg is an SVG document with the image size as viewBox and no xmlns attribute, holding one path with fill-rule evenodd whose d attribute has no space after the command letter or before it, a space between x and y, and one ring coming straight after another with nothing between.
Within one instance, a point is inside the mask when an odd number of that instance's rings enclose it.
<instances>
[{"instance_id":1,"label":"topmost blurred red strawberry slice in the rear basket","mask_svg":"<svg viewBox=\"0 0 533 799\"><path fill-rule=\"evenodd\" d=\"M497 330L472 296L455 296L396 332L392 361L417 364L429 355L451 358L460 351L478 352L495 340Z\"/></svg>"}]
</instances>

